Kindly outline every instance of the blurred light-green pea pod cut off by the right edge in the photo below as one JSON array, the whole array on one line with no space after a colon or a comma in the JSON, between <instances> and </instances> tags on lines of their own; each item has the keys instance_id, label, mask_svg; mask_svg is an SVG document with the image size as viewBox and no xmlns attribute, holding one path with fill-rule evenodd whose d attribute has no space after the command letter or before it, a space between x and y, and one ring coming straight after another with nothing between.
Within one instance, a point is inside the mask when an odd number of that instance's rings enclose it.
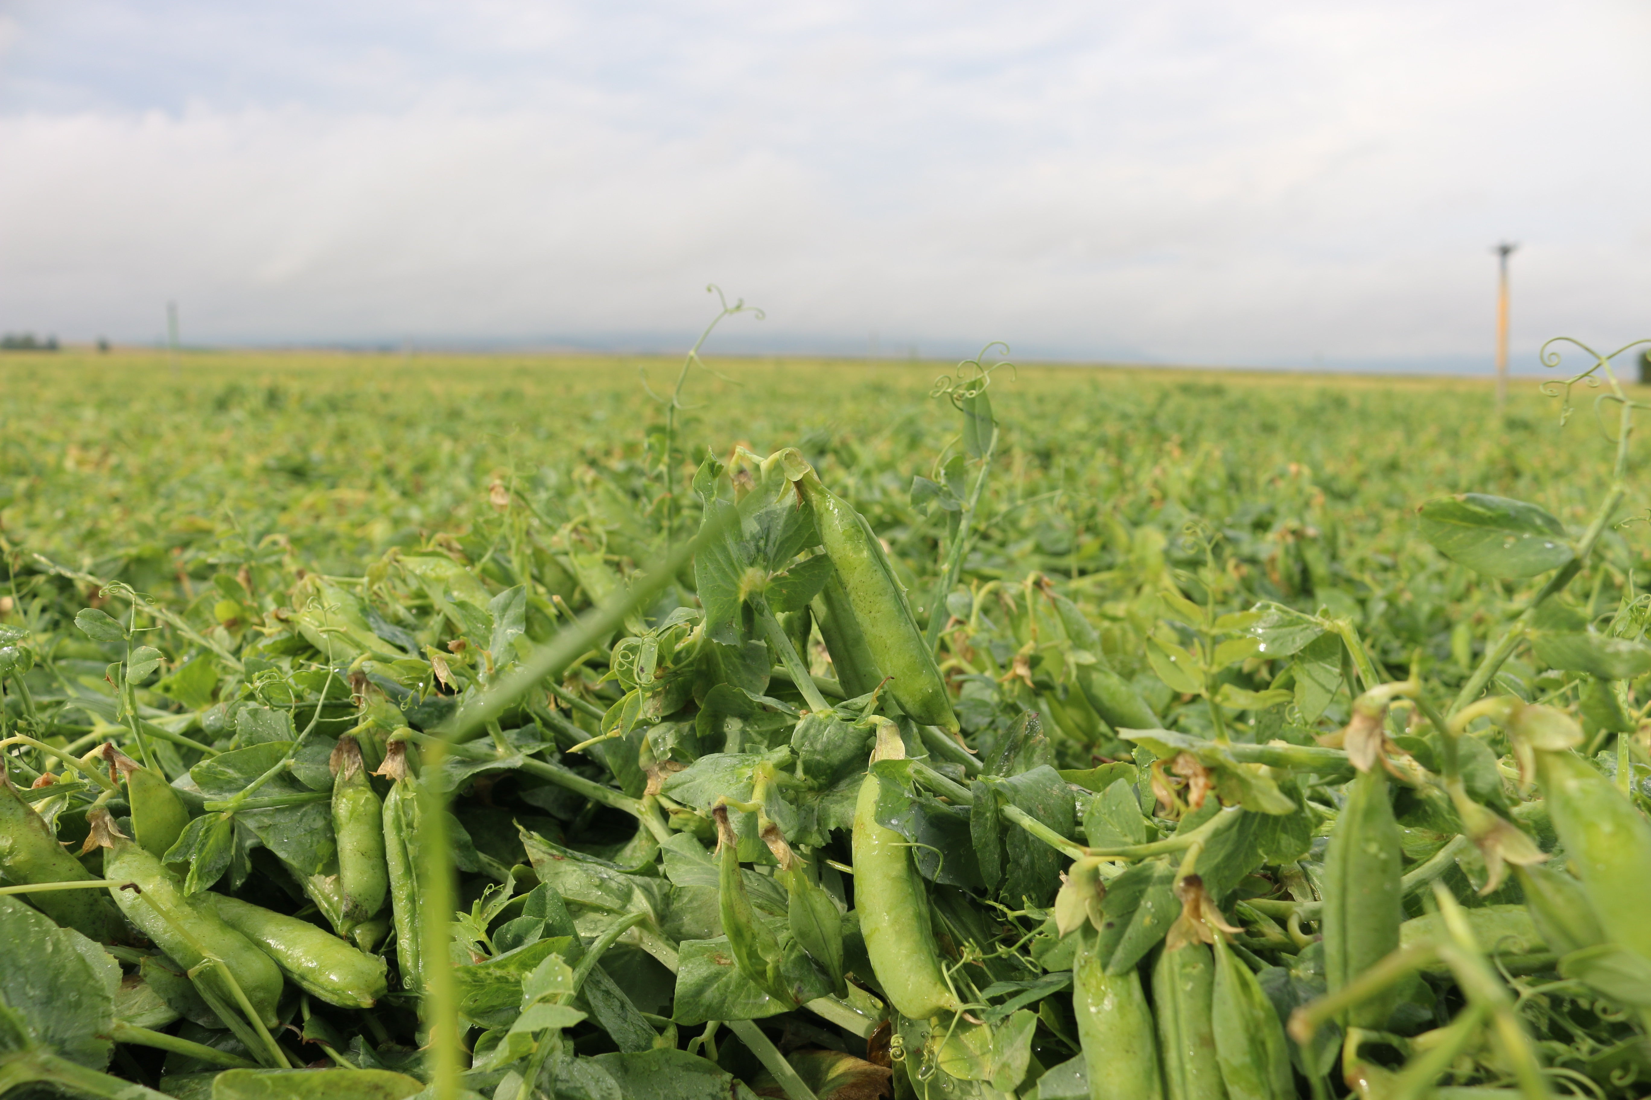
<instances>
[{"instance_id":1,"label":"blurred light-green pea pod cut off by the right edge","mask_svg":"<svg viewBox=\"0 0 1651 1100\"><path fill-rule=\"evenodd\" d=\"M1651 958L1651 823L1575 752L1537 752L1549 816L1605 938Z\"/></svg>"}]
</instances>

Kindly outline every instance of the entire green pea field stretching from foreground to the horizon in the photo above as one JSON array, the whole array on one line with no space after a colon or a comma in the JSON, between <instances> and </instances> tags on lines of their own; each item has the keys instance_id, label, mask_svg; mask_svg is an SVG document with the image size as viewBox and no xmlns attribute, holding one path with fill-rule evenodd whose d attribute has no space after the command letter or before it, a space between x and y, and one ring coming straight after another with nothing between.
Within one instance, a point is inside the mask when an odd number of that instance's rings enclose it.
<instances>
[{"instance_id":1,"label":"entire green pea field stretching from foreground to the horizon","mask_svg":"<svg viewBox=\"0 0 1651 1100\"><path fill-rule=\"evenodd\" d=\"M0 355L0 1093L1651 1097L1638 348L1002 351Z\"/></svg>"}]
</instances>

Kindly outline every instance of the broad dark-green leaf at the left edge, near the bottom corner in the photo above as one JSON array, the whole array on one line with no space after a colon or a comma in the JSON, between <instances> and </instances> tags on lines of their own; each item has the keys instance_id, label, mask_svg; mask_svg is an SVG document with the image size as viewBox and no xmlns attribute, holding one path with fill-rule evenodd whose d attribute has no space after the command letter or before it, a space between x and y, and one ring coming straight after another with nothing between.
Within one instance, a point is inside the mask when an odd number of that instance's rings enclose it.
<instances>
[{"instance_id":1,"label":"broad dark-green leaf at the left edge, near the bottom corner","mask_svg":"<svg viewBox=\"0 0 1651 1100\"><path fill-rule=\"evenodd\" d=\"M20 897L0 897L0 1001L33 1042L102 1069L114 1044L121 966L73 928L59 928Z\"/></svg>"}]
</instances>

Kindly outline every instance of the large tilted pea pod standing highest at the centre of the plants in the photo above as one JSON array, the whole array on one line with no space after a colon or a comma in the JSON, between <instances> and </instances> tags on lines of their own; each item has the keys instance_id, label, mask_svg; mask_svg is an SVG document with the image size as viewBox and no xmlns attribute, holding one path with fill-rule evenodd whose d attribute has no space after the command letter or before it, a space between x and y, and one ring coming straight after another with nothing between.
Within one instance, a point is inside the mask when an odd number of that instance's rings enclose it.
<instances>
[{"instance_id":1,"label":"large tilted pea pod standing highest at the centre of the plants","mask_svg":"<svg viewBox=\"0 0 1651 1100\"><path fill-rule=\"evenodd\" d=\"M911 617L911 605L895 579L883 544L865 518L821 485L812 470L797 485L814 508L821 543L842 577L867 650L877 668L890 676L888 691L895 703L918 722L956 734L958 716L951 709L946 681Z\"/></svg>"}]
</instances>

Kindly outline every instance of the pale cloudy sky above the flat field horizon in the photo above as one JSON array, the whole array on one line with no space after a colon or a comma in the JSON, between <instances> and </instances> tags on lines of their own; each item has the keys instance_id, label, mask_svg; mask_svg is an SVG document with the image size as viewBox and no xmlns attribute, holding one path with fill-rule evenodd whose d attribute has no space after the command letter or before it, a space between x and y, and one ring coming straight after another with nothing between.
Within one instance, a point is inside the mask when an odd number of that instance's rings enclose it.
<instances>
[{"instance_id":1,"label":"pale cloudy sky above the flat field horizon","mask_svg":"<svg viewBox=\"0 0 1651 1100\"><path fill-rule=\"evenodd\" d=\"M1641 0L0 0L0 328L1534 366L1648 135Z\"/></svg>"}]
</instances>

